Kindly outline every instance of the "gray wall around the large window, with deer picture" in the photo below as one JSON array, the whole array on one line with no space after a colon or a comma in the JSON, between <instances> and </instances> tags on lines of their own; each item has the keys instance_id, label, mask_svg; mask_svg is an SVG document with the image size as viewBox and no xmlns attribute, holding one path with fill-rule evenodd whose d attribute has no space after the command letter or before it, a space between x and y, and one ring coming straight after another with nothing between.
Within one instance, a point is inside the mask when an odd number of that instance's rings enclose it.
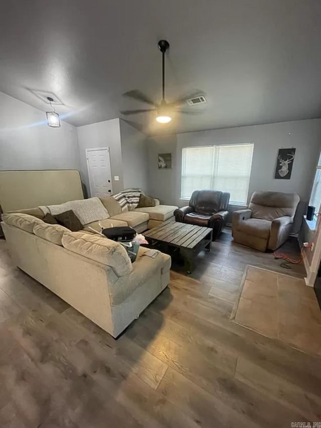
<instances>
[{"instance_id":1,"label":"gray wall around the large window, with deer picture","mask_svg":"<svg viewBox=\"0 0 321 428\"><path fill-rule=\"evenodd\" d=\"M186 201L180 200L182 148L233 143L254 143L249 197L254 190L274 190L296 192L302 200L309 199L321 147L321 119L153 138L148 145L151 193L165 203L185 205ZM290 180L274 179L277 152L282 147L296 148ZM173 153L173 170L157 169L157 153L165 152Z\"/></svg>"}]
</instances>

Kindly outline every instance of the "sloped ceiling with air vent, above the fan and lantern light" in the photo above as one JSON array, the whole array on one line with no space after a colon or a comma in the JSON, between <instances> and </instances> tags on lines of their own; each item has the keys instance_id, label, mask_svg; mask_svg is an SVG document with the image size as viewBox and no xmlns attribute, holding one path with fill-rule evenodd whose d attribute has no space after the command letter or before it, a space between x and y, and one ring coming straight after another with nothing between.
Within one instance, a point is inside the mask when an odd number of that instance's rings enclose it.
<instances>
[{"instance_id":1,"label":"sloped ceiling with air vent, above the fan and lantern light","mask_svg":"<svg viewBox=\"0 0 321 428\"><path fill-rule=\"evenodd\" d=\"M10 0L0 15L0 91L46 111L56 94L80 126L161 100L157 41L171 44L167 99L194 89L202 116L123 117L149 133L187 132L321 117L319 0ZM193 106L188 109L201 109Z\"/></svg>"}]
</instances>

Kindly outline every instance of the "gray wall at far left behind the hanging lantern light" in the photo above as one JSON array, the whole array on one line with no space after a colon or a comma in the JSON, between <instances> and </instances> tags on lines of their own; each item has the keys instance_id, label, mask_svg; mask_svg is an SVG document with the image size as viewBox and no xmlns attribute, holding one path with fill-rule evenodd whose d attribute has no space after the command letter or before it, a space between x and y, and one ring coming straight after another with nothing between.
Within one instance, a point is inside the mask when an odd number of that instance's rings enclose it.
<instances>
[{"instance_id":1,"label":"gray wall at far left behind the hanging lantern light","mask_svg":"<svg viewBox=\"0 0 321 428\"><path fill-rule=\"evenodd\" d=\"M50 128L44 112L0 92L0 170L79 166L74 126L62 121Z\"/></svg>"}]
</instances>

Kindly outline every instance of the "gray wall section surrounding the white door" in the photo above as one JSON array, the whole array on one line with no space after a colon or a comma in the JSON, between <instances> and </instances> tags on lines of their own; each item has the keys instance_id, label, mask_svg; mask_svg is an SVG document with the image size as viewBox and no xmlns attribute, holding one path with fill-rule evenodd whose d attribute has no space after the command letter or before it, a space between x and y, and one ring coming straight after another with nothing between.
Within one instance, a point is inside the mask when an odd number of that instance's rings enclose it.
<instances>
[{"instance_id":1,"label":"gray wall section surrounding the white door","mask_svg":"<svg viewBox=\"0 0 321 428\"><path fill-rule=\"evenodd\" d=\"M77 128L78 145L80 153L80 171L83 182L90 196L89 178L87 170L86 149L109 147L110 164L112 175L113 192L123 190L123 169L121 159L120 129L119 119L85 125ZM114 180L114 176L119 176L119 181Z\"/></svg>"}]
</instances>

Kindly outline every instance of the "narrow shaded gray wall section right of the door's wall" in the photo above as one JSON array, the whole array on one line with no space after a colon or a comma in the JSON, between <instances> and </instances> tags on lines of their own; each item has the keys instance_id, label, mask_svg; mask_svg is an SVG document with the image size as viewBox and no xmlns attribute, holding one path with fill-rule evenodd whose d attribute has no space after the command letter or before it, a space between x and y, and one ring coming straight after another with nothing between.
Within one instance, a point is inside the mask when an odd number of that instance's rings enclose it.
<instances>
[{"instance_id":1,"label":"narrow shaded gray wall section right of the door's wall","mask_svg":"<svg viewBox=\"0 0 321 428\"><path fill-rule=\"evenodd\" d=\"M147 140L145 134L120 119L124 188L137 187L148 193Z\"/></svg>"}]
</instances>

